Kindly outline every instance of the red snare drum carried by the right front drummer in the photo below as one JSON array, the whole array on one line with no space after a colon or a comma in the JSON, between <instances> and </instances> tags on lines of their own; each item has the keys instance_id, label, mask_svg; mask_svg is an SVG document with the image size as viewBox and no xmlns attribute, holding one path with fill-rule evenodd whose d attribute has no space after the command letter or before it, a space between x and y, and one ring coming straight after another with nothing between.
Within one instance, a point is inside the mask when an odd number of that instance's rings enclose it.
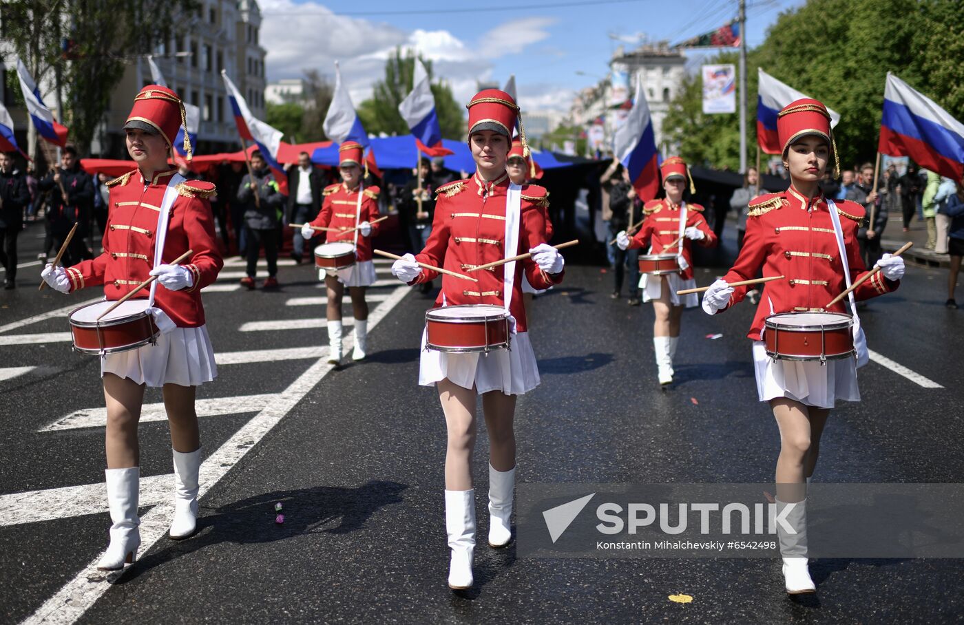
<instances>
[{"instance_id":1,"label":"red snare drum carried by the right front drummer","mask_svg":"<svg viewBox=\"0 0 964 625\"><path fill-rule=\"evenodd\" d=\"M853 318L846 313L795 312L770 315L763 343L773 359L819 360L852 356Z\"/></svg>"}]
</instances>

